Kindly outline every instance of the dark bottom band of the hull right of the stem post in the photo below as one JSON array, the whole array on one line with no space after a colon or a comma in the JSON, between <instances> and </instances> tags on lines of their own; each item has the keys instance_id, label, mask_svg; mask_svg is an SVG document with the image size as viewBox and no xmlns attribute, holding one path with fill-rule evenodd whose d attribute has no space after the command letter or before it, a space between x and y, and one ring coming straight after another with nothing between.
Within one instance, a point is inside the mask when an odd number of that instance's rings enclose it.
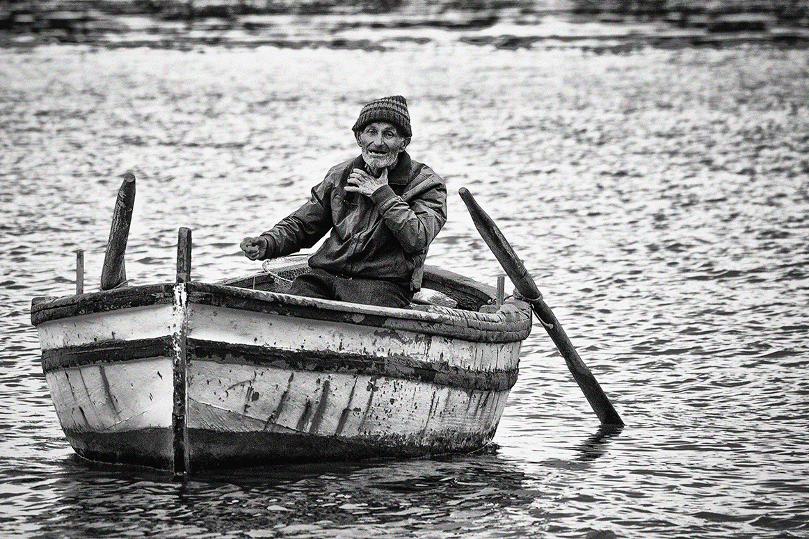
<instances>
[{"instance_id":1,"label":"dark bottom band of the hull right of the stem post","mask_svg":"<svg viewBox=\"0 0 809 539\"><path fill-rule=\"evenodd\" d=\"M299 462L412 458L472 452L488 444L497 426L483 433L453 433L428 440L401 435L365 439L277 432L188 429L191 468L210 469Z\"/></svg>"}]
</instances>

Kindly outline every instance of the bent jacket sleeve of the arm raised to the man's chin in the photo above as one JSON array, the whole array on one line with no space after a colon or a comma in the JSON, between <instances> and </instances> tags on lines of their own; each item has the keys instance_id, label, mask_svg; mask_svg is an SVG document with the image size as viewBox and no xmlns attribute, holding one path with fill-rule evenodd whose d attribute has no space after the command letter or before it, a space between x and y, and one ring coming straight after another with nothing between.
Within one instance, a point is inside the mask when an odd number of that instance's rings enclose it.
<instances>
[{"instance_id":1,"label":"bent jacket sleeve of the arm raised to the man's chin","mask_svg":"<svg viewBox=\"0 0 809 539\"><path fill-rule=\"evenodd\" d=\"M404 193L409 203L389 185L383 185L371 195L385 225L408 254L426 251L447 223L447 186L443 180L431 173L417 189L413 197Z\"/></svg>"}]
</instances>

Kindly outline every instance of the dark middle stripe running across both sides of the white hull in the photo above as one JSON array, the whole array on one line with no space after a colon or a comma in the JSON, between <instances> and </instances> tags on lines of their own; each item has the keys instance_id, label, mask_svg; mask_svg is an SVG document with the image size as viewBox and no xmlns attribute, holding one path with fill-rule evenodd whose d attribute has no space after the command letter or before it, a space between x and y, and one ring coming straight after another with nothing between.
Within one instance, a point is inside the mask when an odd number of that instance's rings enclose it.
<instances>
[{"instance_id":1,"label":"dark middle stripe running across both sides of the white hull","mask_svg":"<svg viewBox=\"0 0 809 539\"><path fill-rule=\"evenodd\" d=\"M235 345L187 339L188 361L205 359L217 363L249 364L285 371L334 372L386 376L477 391L505 391L517 381L518 369L472 371L446 363L426 363L404 355L385 358L332 351L273 350L263 346ZM158 356L172 357L171 337L129 342L102 342L47 350L42 354L43 371L105 363L121 363Z\"/></svg>"}]
</instances>

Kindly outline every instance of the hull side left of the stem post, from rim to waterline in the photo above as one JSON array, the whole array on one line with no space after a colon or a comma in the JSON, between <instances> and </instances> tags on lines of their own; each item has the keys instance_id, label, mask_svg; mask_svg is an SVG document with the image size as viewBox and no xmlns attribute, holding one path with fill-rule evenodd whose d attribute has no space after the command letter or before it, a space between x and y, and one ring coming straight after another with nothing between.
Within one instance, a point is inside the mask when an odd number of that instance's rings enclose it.
<instances>
[{"instance_id":1,"label":"hull side left of the stem post, from rim to waterline","mask_svg":"<svg viewBox=\"0 0 809 539\"><path fill-rule=\"evenodd\" d=\"M157 304L37 326L57 418L79 455L172 466L171 322L172 305ZM138 342L164 344L116 359L116 345Z\"/></svg>"}]
</instances>

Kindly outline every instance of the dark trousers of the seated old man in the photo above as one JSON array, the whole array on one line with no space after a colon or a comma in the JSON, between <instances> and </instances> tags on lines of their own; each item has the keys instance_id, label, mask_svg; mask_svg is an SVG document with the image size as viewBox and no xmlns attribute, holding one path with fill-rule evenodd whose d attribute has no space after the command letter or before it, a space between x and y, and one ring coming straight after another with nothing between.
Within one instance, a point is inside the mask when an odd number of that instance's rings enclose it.
<instances>
[{"instance_id":1,"label":"dark trousers of the seated old man","mask_svg":"<svg viewBox=\"0 0 809 539\"><path fill-rule=\"evenodd\" d=\"M376 279L338 277L323 269L312 269L296 277L287 294L380 307L404 307L413 299L409 286Z\"/></svg>"}]
</instances>

